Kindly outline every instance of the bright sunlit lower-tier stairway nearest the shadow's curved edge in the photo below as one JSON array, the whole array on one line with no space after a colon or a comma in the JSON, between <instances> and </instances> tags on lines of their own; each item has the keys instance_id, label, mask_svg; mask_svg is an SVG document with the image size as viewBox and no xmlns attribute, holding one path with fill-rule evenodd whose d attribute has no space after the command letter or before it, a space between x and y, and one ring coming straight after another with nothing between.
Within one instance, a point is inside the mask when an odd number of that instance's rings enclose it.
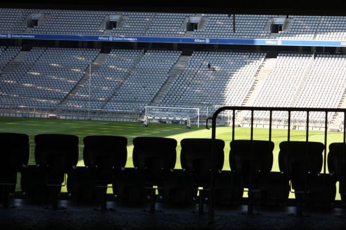
<instances>
[{"instance_id":1,"label":"bright sunlit lower-tier stairway nearest the shadow's curved edge","mask_svg":"<svg viewBox=\"0 0 346 230\"><path fill-rule=\"evenodd\" d=\"M262 88L262 85L264 81L267 79L267 77L270 75L271 70L275 66L276 58L265 58L263 63L260 65L259 69L257 70L255 76L256 80L254 84L252 85L248 95L246 95L242 106L252 106L254 100L259 95L259 91Z\"/></svg>"}]
</instances>

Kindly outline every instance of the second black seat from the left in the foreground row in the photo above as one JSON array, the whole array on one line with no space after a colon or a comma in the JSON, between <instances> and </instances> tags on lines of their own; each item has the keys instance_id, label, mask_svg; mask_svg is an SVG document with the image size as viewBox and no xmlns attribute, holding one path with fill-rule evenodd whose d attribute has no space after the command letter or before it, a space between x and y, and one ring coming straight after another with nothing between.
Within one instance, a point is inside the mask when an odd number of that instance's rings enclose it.
<instances>
[{"instance_id":1,"label":"second black seat from the left in the foreground row","mask_svg":"<svg viewBox=\"0 0 346 230\"><path fill-rule=\"evenodd\" d=\"M66 134L38 134L35 136L35 161L45 178L52 209L58 209L58 194L65 174L78 163L79 138Z\"/></svg>"}]
</instances>

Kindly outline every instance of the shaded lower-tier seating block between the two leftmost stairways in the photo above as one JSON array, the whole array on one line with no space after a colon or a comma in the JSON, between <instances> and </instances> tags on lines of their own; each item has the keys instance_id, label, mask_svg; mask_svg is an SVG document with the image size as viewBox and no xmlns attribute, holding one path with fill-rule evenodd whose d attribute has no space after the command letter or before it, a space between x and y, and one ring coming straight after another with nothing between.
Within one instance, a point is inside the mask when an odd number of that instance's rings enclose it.
<instances>
[{"instance_id":1,"label":"shaded lower-tier seating block between the two leftmost stairways","mask_svg":"<svg viewBox=\"0 0 346 230\"><path fill-rule=\"evenodd\" d=\"M56 107L84 76L97 49L34 47L24 63L1 80L4 103Z\"/></svg>"}]
</instances>

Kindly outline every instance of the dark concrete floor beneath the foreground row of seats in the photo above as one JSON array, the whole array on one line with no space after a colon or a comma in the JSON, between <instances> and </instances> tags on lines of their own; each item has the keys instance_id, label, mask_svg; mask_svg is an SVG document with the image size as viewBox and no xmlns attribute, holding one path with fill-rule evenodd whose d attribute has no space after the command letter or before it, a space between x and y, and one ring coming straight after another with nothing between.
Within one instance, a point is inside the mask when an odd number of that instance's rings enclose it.
<instances>
[{"instance_id":1,"label":"dark concrete floor beneath the foreground row of seats","mask_svg":"<svg viewBox=\"0 0 346 230\"><path fill-rule=\"evenodd\" d=\"M193 214L189 207L157 204L161 213L143 212L147 205L128 206L107 202L115 211L97 211L93 205L81 206L62 200L65 210L44 209L22 199L12 200L14 209L0 209L0 230L130 230L130 229L346 229L346 209L327 211L304 210L308 216L290 216L296 207L254 207L255 215L243 215L246 205L217 207L215 223L209 224L208 214ZM207 205L206 209L207 209ZM258 212L260 213L258 215Z\"/></svg>"}]
</instances>

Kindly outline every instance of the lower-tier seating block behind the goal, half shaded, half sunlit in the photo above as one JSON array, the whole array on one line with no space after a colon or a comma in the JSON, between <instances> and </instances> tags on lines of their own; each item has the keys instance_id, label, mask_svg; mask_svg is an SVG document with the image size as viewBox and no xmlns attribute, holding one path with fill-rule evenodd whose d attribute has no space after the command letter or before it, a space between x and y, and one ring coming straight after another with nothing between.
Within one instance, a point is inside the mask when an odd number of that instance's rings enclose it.
<instances>
[{"instance_id":1,"label":"lower-tier seating block behind the goal, half shaded, half sunlit","mask_svg":"<svg viewBox=\"0 0 346 230\"><path fill-rule=\"evenodd\" d=\"M160 106L198 107L206 113L208 106L241 105L264 57L254 53L194 52Z\"/></svg>"}]
</instances>

